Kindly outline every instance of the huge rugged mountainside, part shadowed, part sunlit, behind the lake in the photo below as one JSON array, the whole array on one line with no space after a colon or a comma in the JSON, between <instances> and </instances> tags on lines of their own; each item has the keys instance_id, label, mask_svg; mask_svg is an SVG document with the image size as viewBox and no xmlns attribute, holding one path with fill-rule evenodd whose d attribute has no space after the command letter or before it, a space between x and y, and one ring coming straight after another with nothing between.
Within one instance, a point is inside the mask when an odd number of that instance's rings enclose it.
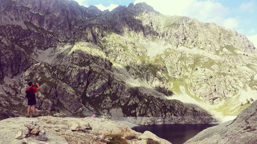
<instances>
[{"instance_id":1,"label":"huge rugged mountainside, part shadowed, part sunlit, behind the lake","mask_svg":"<svg viewBox=\"0 0 257 144\"><path fill-rule=\"evenodd\" d=\"M42 115L106 114L136 124L215 122L168 98L187 94L233 105L231 112L244 90L257 89L255 47L215 24L164 16L145 3L111 12L74 1L0 3L3 118L24 114L27 81L41 85Z\"/></svg>"}]
</instances>

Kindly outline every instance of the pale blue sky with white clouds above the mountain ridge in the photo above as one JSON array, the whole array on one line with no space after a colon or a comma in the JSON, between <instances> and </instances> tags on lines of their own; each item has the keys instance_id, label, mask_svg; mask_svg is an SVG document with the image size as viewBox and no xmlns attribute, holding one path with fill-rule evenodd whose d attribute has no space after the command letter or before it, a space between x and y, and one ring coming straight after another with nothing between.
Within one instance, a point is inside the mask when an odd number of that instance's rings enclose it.
<instances>
[{"instance_id":1,"label":"pale blue sky with white clouds above the mountain ridge","mask_svg":"<svg viewBox=\"0 0 257 144\"><path fill-rule=\"evenodd\" d=\"M246 35L257 48L257 0L75 0L80 5L94 5L109 11L117 6L145 2L164 15L196 18L213 22Z\"/></svg>"}]
</instances>

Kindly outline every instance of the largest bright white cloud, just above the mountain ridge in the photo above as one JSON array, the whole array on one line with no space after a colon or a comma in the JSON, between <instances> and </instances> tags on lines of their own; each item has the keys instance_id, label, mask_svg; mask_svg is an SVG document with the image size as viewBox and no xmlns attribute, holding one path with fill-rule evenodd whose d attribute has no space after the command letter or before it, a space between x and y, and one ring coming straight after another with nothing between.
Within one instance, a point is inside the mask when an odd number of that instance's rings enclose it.
<instances>
[{"instance_id":1,"label":"largest bright white cloud, just above the mountain ridge","mask_svg":"<svg viewBox=\"0 0 257 144\"><path fill-rule=\"evenodd\" d=\"M134 3L140 2L145 2L165 15L194 17L202 22L213 22L230 29L236 29L239 25L238 18L227 17L230 11L228 7L214 1L135 0Z\"/></svg>"}]
</instances>

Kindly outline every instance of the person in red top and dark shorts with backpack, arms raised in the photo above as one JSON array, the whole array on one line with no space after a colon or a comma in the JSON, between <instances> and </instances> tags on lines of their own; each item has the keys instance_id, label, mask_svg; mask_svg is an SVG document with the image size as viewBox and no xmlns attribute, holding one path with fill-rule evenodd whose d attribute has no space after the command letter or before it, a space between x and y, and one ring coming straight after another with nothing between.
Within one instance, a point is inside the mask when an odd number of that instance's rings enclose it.
<instances>
[{"instance_id":1,"label":"person in red top and dark shorts with backpack, arms raised","mask_svg":"<svg viewBox=\"0 0 257 144\"><path fill-rule=\"evenodd\" d=\"M36 85L38 88L33 87L33 84ZM28 110L27 110L28 115L26 117L29 117L29 115L30 115L31 106L32 106L32 109L33 109L32 110L32 112L33 112L32 117L35 117L35 105L36 105L35 92L39 91L40 87L39 87L38 83L29 82L28 85L29 86L26 88L26 98L28 99Z\"/></svg>"}]
</instances>

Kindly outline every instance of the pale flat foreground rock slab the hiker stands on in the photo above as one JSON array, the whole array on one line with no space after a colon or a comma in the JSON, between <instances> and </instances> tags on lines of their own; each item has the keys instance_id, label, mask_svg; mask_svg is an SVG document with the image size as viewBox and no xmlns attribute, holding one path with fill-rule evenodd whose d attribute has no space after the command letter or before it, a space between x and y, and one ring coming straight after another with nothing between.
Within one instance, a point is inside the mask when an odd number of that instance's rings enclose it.
<instances>
[{"instance_id":1,"label":"pale flat foreground rock slab the hiker stands on","mask_svg":"<svg viewBox=\"0 0 257 144\"><path fill-rule=\"evenodd\" d=\"M24 126L33 121L44 128L45 135L24 136ZM76 126L76 128L75 128ZM90 129L89 129L90 128ZM20 132L20 134L19 134ZM18 135L19 134L19 135ZM18 138L19 137L19 138ZM18 138L18 139L17 139ZM0 143L107 143L112 140L120 140L126 143L146 144L149 140L168 144L151 132L144 134L135 132L128 126L119 122L101 118L60 118L43 116L37 118L8 118L1 121ZM43 141L42 141L43 140Z\"/></svg>"}]
</instances>

